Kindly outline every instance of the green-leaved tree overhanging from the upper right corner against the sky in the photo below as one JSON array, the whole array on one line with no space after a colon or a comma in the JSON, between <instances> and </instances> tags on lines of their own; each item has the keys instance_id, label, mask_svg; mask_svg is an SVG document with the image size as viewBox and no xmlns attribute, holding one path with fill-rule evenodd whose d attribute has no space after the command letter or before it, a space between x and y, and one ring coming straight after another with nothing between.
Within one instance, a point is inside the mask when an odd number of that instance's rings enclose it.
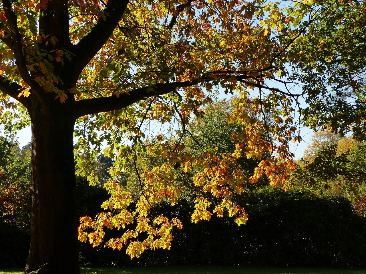
<instances>
[{"instance_id":1,"label":"green-leaved tree overhanging from the upper right corner against the sky","mask_svg":"<svg viewBox=\"0 0 366 274\"><path fill-rule=\"evenodd\" d=\"M292 47L292 79L300 80L308 106L303 121L313 129L365 138L364 1L326 1L316 22ZM299 62L300 61L300 62Z\"/></svg>"}]
</instances>

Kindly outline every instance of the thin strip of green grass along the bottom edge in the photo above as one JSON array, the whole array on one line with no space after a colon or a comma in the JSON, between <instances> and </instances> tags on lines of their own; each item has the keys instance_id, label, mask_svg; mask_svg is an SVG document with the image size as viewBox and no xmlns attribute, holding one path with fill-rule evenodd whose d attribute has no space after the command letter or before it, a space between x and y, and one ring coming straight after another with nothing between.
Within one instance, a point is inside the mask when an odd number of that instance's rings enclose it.
<instances>
[{"instance_id":1,"label":"thin strip of green grass along the bottom edge","mask_svg":"<svg viewBox=\"0 0 366 274\"><path fill-rule=\"evenodd\" d=\"M299 267L247 266L178 266L178 267L92 267L81 268L81 274L366 274L366 269L330 269ZM21 269L0 269L0 274L22 274Z\"/></svg>"}]
</instances>

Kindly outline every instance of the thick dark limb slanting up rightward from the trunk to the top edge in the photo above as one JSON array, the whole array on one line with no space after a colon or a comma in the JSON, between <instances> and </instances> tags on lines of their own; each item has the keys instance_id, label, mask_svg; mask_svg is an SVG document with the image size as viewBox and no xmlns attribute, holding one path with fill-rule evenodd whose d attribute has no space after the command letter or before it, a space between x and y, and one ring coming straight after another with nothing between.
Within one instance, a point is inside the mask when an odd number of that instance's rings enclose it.
<instances>
[{"instance_id":1,"label":"thick dark limb slanting up rightward from the trunk to the top edge","mask_svg":"<svg viewBox=\"0 0 366 274\"><path fill-rule=\"evenodd\" d=\"M72 79L72 82L76 83L83 68L111 37L113 30L115 30L122 18L127 4L128 0L109 0L103 10L106 17L99 18L91 31L74 46L73 53L75 56L71 66L74 69L74 79Z\"/></svg>"}]
</instances>

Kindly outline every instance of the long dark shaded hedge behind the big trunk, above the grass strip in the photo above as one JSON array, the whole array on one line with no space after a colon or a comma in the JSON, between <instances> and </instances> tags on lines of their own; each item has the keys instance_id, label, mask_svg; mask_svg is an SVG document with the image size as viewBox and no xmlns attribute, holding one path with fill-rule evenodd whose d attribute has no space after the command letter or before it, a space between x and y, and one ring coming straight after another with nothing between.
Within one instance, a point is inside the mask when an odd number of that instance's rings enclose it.
<instances>
[{"instance_id":1,"label":"long dark shaded hedge behind the big trunk, above the grass strip","mask_svg":"<svg viewBox=\"0 0 366 274\"><path fill-rule=\"evenodd\" d=\"M108 197L104 189L79 182L79 214L94 216ZM174 232L172 248L147 251L130 260L124 251L80 245L87 266L144 265L261 265L311 267L365 267L365 218L352 211L346 199L306 199L301 193L266 187L253 190L241 201L249 220L238 227L230 218L213 217L190 222L191 202L173 208L160 203L155 213L178 215L184 228ZM29 235L0 224L0 267L25 265ZM109 231L106 237L118 236Z\"/></svg>"}]
</instances>

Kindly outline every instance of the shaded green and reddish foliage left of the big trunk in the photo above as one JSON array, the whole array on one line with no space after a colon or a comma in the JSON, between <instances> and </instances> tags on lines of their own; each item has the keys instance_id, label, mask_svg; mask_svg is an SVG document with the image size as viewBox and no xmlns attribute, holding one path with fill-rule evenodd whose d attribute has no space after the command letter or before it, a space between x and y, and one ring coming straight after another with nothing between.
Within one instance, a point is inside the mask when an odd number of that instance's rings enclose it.
<instances>
[{"instance_id":1,"label":"shaded green and reddish foliage left of the big trunk","mask_svg":"<svg viewBox=\"0 0 366 274\"><path fill-rule=\"evenodd\" d=\"M0 136L0 265L23 265L29 251L30 150Z\"/></svg>"}]
</instances>

